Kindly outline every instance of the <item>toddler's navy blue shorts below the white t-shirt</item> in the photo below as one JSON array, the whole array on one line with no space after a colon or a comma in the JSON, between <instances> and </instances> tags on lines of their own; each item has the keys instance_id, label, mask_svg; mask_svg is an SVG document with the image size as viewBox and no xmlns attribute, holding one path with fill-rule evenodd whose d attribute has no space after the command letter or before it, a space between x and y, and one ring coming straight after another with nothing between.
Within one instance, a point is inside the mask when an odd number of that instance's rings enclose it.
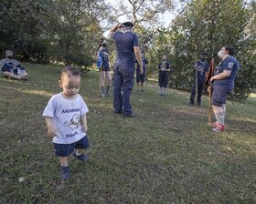
<instances>
[{"instance_id":1,"label":"toddler's navy blue shorts below the white t-shirt","mask_svg":"<svg viewBox=\"0 0 256 204\"><path fill-rule=\"evenodd\" d=\"M85 136L81 138L79 141L71 144L57 144L53 143L55 149L55 155L57 157L68 157L75 148L86 149L89 148L89 140L88 137Z\"/></svg>"}]
</instances>

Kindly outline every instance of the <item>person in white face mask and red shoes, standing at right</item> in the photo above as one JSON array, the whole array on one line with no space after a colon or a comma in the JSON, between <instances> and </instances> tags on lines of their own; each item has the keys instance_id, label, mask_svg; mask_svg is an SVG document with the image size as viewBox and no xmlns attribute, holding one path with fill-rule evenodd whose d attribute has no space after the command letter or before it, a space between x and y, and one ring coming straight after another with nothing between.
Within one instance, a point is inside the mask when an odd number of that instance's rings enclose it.
<instances>
[{"instance_id":1,"label":"person in white face mask and red shoes, standing at right","mask_svg":"<svg viewBox=\"0 0 256 204\"><path fill-rule=\"evenodd\" d=\"M219 66L217 66L214 76L210 78L213 84L212 108L217 119L217 122L211 125L213 126L212 130L216 132L224 131L226 98L234 88L235 77L240 69L240 64L233 55L233 46L223 46L218 53L222 61L219 63Z\"/></svg>"}]
</instances>

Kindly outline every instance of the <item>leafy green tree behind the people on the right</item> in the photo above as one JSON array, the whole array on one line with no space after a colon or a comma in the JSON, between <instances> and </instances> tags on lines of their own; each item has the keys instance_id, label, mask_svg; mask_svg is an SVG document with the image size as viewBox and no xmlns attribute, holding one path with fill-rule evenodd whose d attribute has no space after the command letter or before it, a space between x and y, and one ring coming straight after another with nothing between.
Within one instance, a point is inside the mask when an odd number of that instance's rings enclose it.
<instances>
[{"instance_id":1,"label":"leafy green tree behind the people on the right","mask_svg":"<svg viewBox=\"0 0 256 204\"><path fill-rule=\"evenodd\" d=\"M253 21L249 15L253 13L251 6L241 0L190 1L184 12L176 17L171 30L163 30L158 35L152 50L153 53L168 50L173 62L170 85L191 87L193 65L201 52L208 52L209 58L214 57L217 65L220 61L216 55L219 48L230 44L235 47L241 66L232 97L248 97L255 86L255 36L251 32L251 37L246 38L244 33L249 22ZM159 42L160 46L157 45Z\"/></svg>"}]
</instances>

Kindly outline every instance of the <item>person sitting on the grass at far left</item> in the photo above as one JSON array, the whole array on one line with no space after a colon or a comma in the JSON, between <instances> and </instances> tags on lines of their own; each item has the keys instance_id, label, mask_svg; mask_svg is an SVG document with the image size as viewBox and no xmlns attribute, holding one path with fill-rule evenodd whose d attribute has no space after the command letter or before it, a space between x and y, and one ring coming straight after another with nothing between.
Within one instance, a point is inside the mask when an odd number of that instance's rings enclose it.
<instances>
[{"instance_id":1,"label":"person sitting on the grass at far left","mask_svg":"<svg viewBox=\"0 0 256 204\"><path fill-rule=\"evenodd\" d=\"M6 50L5 56L6 57L0 61L1 75L12 79L27 80L27 72L25 68L14 59L14 53L11 50Z\"/></svg>"}]
</instances>

